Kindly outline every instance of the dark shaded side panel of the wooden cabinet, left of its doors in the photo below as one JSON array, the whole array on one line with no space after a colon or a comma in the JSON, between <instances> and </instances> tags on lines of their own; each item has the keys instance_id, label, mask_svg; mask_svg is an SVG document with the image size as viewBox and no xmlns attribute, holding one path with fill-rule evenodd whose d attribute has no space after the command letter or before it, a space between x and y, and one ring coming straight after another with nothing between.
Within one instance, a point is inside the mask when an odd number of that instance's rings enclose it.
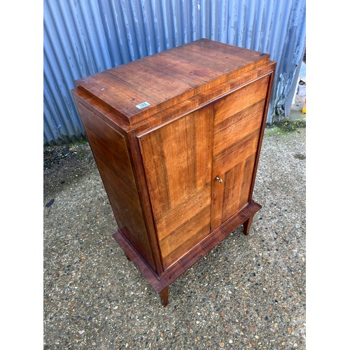
<instances>
[{"instance_id":1,"label":"dark shaded side panel of the wooden cabinet, left of its doors","mask_svg":"<svg viewBox=\"0 0 350 350\"><path fill-rule=\"evenodd\" d=\"M118 227L155 269L125 137L80 102L76 106Z\"/></svg>"}]
</instances>

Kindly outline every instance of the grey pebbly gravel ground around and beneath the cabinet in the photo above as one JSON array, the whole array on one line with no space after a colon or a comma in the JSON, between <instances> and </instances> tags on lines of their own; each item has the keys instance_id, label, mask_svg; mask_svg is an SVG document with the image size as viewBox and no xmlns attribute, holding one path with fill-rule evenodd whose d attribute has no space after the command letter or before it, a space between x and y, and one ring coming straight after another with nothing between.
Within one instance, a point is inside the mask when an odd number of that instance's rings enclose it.
<instances>
[{"instance_id":1,"label":"grey pebbly gravel ground around and beneath the cabinet","mask_svg":"<svg viewBox=\"0 0 350 350\"><path fill-rule=\"evenodd\" d=\"M248 237L237 229L169 286L111 237L87 144L44 151L44 349L305 349L305 128L267 129Z\"/></svg>"}]
</instances>

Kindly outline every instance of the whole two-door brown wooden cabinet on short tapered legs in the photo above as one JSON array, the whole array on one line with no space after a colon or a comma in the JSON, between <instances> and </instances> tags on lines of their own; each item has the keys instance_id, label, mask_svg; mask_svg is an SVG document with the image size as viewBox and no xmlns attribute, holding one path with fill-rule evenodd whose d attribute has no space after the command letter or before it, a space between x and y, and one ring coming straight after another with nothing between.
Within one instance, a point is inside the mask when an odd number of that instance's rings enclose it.
<instances>
[{"instance_id":1,"label":"whole two-door brown wooden cabinet on short tapered legs","mask_svg":"<svg viewBox=\"0 0 350 350\"><path fill-rule=\"evenodd\" d=\"M261 207L253 186L276 63L201 39L76 81L76 106L118 230L167 287Z\"/></svg>"}]
</instances>

